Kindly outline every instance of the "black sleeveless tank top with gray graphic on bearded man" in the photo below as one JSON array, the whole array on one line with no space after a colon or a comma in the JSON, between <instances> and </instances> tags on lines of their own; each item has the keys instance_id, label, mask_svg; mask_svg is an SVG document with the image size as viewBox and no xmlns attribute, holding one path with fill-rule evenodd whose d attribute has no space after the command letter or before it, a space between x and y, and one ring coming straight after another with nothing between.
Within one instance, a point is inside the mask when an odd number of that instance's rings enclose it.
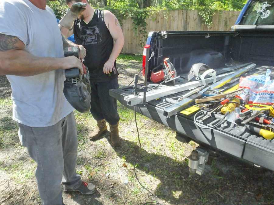
<instances>
[{"instance_id":1,"label":"black sleeveless tank top with gray graphic on bearded man","mask_svg":"<svg viewBox=\"0 0 274 205\"><path fill-rule=\"evenodd\" d=\"M116 60L110 74L103 71L104 64L109 59L113 49L113 38L104 21L104 10L96 9L91 21L86 24L83 20L74 21L74 39L86 49L85 66L90 72L90 80L104 82L118 77Z\"/></svg>"}]
</instances>

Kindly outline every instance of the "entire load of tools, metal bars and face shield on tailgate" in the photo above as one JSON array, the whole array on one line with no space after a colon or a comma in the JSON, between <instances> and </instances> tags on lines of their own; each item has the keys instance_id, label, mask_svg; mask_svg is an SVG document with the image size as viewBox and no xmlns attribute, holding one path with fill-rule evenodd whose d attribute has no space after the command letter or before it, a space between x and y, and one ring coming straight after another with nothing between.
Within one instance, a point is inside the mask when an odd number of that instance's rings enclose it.
<instances>
[{"instance_id":1,"label":"entire load of tools, metal bars and face shield on tailgate","mask_svg":"<svg viewBox=\"0 0 274 205\"><path fill-rule=\"evenodd\" d=\"M167 118L176 113L195 114L195 124L203 129L215 128L227 121L234 126L245 126L251 133L265 139L272 139L274 80L270 80L269 69L265 75L246 76L255 67L254 63L244 63L213 70L203 63L196 63L188 75L178 75L167 58L151 74L150 80L162 81L160 84L144 84L139 88L138 75L135 75L131 88L133 94L125 96L124 100L130 106L145 106L146 102L158 99L161 102L155 105ZM205 78L207 75L210 77ZM175 80L180 83L176 84ZM163 85L169 81L174 85ZM215 118L214 125L206 123L210 118Z\"/></svg>"}]
</instances>

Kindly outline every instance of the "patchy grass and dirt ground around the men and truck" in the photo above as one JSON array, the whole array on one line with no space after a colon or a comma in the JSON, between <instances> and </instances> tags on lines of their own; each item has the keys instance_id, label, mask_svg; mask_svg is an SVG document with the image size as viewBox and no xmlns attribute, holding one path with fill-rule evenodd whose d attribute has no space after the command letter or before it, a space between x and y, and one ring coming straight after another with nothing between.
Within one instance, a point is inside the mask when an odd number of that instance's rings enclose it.
<instances>
[{"instance_id":1,"label":"patchy grass and dirt ground around the men and truck","mask_svg":"<svg viewBox=\"0 0 274 205\"><path fill-rule=\"evenodd\" d=\"M118 60L120 86L128 85L141 70L140 61ZM141 75L140 75L141 77ZM142 78L141 78L142 79ZM11 89L0 76L0 204L40 204L35 181L36 164L20 145L12 121ZM64 203L143 204L153 197L139 186L133 172L139 149L134 113L118 104L119 148L109 143L109 133L96 142L87 140L95 121L91 114L75 112L79 140L77 173L97 185L90 196L64 193ZM169 128L137 115L142 155L136 166L141 183L153 190L162 204L274 204L273 172L257 169L230 156L211 155L203 176L189 176L186 157L197 146L175 139Z\"/></svg>"}]
</instances>

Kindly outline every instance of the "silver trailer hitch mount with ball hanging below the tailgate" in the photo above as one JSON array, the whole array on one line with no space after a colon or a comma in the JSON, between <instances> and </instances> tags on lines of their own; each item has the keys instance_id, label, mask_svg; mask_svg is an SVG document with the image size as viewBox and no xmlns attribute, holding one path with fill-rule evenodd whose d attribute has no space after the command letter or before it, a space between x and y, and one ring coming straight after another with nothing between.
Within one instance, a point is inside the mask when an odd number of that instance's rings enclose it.
<instances>
[{"instance_id":1,"label":"silver trailer hitch mount with ball hanging below the tailgate","mask_svg":"<svg viewBox=\"0 0 274 205\"><path fill-rule=\"evenodd\" d=\"M200 147L197 147L196 150L193 150L191 152L191 155L188 157L188 166L190 174L197 173L198 175L202 175L204 173L208 157L209 153Z\"/></svg>"}]
</instances>

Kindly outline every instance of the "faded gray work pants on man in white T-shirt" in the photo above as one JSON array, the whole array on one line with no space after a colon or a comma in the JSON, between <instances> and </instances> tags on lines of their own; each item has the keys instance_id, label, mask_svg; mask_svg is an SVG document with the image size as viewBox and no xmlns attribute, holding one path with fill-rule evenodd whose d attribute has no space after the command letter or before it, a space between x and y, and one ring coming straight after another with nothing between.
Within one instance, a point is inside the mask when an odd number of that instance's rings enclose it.
<instances>
[{"instance_id":1,"label":"faded gray work pants on man in white T-shirt","mask_svg":"<svg viewBox=\"0 0 274 205\"><path fill-rule=\"evenodd\" d=\"M37 163L36 180L44 205L62 205L62 187L73 190L82 181L76 174L77 132L73 112L50 127L19 124L20 142Z\"/></svg>"}]
</instances>

